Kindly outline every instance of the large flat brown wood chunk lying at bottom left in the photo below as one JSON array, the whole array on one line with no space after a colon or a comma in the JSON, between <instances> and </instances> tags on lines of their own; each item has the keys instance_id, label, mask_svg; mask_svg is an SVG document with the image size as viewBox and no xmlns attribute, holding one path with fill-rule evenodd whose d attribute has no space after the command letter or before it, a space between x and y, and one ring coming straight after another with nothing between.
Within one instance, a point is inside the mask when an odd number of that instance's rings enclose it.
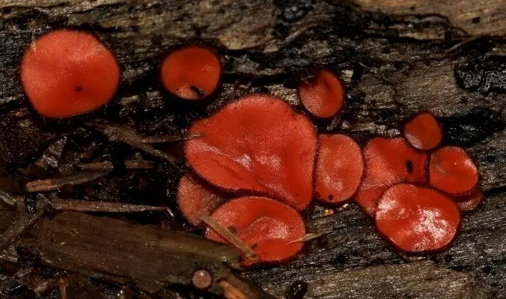
<instances>
[{"instance_id":1,"label":"large flat brown wood chunk lying at bottom left","mask_svg":"<svg viewBox=\"0 0 506 299\"><path fill-rule=\"evenodd\" d=\"M19 215L2 211L0 226L5 230ZM28 239L19 242L27 245L29 235L36 237L34 254L43 264L71 273L157 293L166 285L189 286L193 273L205 269L212 274L209 290L214 293L227 291L221 286L226 280L247 298L269 298L232 273L239 268L239 251L192 234L61 212L51 221L39 221L26 235Z\"/></svg>"}]
</instances>

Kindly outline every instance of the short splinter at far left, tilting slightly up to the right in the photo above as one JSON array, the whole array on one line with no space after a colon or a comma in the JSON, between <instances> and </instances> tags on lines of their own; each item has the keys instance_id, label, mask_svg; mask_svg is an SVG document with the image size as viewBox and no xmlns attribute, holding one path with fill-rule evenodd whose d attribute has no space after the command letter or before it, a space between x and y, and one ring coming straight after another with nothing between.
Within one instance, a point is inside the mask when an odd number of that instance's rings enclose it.
<instances>
[{"instance_id":1,"label":"short splinter at far left, tilting slightly up to the right","mask_svg":"<svg viewBox=\"0 0 506 299\"><path fill-rule=\"evenodd\" d=\"M95 181L95 179L99 179L109 173L110 170L84 171L78 174L72 174L56 179L38 179L36 181L26 183L25 189L26 192L46 192L59 189L67 184L78 185L92 182Z\"/></svg>"}]
</instances>

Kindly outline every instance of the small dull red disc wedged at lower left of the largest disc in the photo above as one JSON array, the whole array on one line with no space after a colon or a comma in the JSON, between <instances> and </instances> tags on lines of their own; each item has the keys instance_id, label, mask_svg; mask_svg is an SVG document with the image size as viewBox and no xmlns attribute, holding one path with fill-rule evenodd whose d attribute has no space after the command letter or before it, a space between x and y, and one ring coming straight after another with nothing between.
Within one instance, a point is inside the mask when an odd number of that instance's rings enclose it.
<instances>
[{"instance_id":1,"label":"small dull red disc wedged at lower left of the largest disc","mask_svg":"<svg viewBox=\"0 0 506 299\"><path fill-rule=\"evenodd\" d=\"M185 174L177 187L177 206L194 226L201 226L200 216L211 214L224 201L222 196L199 181L198 178Z\"/></svg>"}]
</instances>

